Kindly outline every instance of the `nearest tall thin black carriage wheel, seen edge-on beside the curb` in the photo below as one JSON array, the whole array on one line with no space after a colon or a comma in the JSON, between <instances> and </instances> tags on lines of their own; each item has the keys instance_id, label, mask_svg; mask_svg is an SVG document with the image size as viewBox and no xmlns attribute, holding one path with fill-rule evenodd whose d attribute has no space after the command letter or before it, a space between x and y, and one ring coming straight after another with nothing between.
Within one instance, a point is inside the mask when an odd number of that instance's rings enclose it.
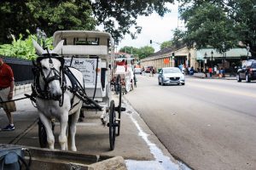
<instances>
[{"instance_id":1,"label":"nearest tall thin black carriage wheel, seen edge-on beside the curb","mask_svg":"<svg viewBox=\"0 0 256 170\"><path fill-rule=\"evenodd\" d=\"M110 110L109 110L109 144L110 150L114 149L114 141L115 141L115 111L114 111L114 102L111 100L110 102Z\"/></svg>"}]
</instances>

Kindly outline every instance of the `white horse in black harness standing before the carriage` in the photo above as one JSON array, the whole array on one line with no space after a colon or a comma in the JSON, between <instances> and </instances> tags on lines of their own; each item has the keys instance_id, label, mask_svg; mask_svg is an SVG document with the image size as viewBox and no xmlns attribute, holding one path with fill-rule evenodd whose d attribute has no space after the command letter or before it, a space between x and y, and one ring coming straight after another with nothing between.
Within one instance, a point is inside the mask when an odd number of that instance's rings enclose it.
<instances>
[{"instance_id":1,"label":"white horse in black harness standing before the carriage","mask_svg":"<svg viewBox=\"0 0 256 170\"><path fill-rule=\"evenodd\" d=\"M49 149L54 149L55 137L52 132L52 119L60 122L61 133L59 134L59 143L61 150L76 151L75 133L76 123L79 120L79 113L82 107L82 100L73 92L73 82L63 73L64 59L57 57L56 52L63 45L61 41L54 50L45 51L37 42L33 42L38 54L43 57L37 59L37 72L35 78L36 105L39 118L44 124L47 134ZM69 68L69 71L75 75L74 79L79 84L83 84L83 74L75 69ZM67 142L67 124L68 116L71 116L70 126L68 127Z\"/></svg>"}]
</instances>

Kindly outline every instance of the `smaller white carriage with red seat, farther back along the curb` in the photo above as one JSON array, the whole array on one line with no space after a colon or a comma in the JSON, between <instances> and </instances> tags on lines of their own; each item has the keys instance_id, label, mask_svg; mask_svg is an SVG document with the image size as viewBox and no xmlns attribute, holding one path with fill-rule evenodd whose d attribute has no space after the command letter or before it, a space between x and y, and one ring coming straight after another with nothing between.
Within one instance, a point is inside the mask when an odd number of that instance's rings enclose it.
<instances>
[{"instance_id":1,"label":"smaller white carriage with red seat, farther back along the curb","mask_svg":"<svg viewBox=\"0 0 256 170\"><path fill-rule=\"evenodd\" d=\"M134 74L134 58L116 58L114 59L114 69L112 84L113 90L116 94L119 94L119 90L122 93L127 94L131 90L137 87L137 79ZM121 86L119 86L121 84ZM121 89L119 89L121 87Z\"/></svg>"}]
</instances>

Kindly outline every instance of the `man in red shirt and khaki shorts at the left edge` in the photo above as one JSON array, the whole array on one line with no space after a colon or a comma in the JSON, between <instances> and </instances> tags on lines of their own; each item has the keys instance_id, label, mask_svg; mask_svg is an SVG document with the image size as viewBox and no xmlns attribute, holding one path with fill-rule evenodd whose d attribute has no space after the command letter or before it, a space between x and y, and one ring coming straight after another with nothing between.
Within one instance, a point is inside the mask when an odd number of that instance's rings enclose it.
<instances>
[{"instance_id":1,"label":"man in red shirt and khaki shorts at the left edge","mask_svg":"<svg viewBox=\"0 0 256 170\"><path fill-rule=\"evenodd\" d=\"M9 65L3 62L0 55L0 101L8 101L14 97L15 78L14 73ZM15 130L13 115L11 112L16 111L15 102L7 102L0 104L5 111L9 120L9 125L3 128L5 131Z\"/></svg>"}]
</instances>

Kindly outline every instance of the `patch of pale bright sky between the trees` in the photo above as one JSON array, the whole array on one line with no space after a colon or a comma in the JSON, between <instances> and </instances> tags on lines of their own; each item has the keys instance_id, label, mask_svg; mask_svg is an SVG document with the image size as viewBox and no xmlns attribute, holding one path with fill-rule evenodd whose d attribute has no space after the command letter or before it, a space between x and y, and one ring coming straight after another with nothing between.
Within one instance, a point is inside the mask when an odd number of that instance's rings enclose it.
<instances>
[{"instance_id":1,"label":"patch of pale bright sky between the trees","mask_svg":"<svg viewBox=\"0 0 256 170\"><path fill-rule=\"evenodd\" d=\"M181 21L178 21L177 3L167 4L168 8L172 11L167 13L164 17L160 17L154 13L149 16L139 16L137 18L137 26L142 26L143 30L141 34L137 36L137 39L132 40L130 35L125 35L125 38L119 42L119 48L125 46L131 46L134 48L142 48L144 46L151 46L154 48L154 52L160 50L158 43L170 41L172 39L172 30L176 29L177 26L182 26ZM150 40L153 41L150 44Z\"/></svg>"}]
</instances>

